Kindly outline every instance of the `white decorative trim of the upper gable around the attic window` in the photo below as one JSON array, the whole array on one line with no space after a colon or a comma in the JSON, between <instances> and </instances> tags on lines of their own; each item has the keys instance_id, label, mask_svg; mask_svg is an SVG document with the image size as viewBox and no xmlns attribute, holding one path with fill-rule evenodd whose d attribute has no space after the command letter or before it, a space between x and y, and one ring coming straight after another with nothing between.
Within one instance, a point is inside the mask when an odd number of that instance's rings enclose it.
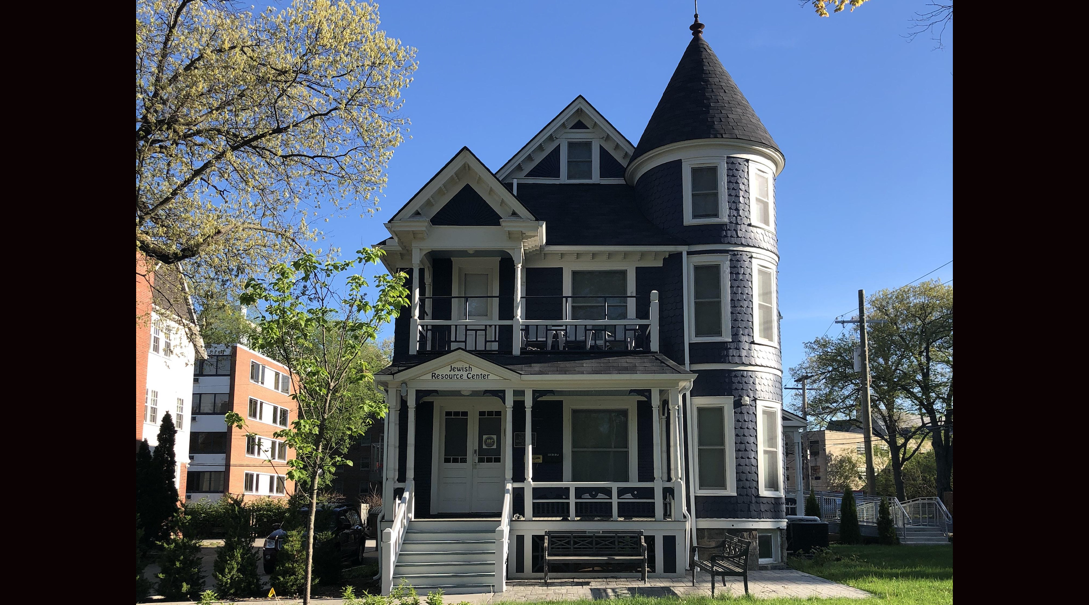
<instances>
[{"instance_id":1,"label":"white decorative trim of the upper gable around the attic window","mask_svg":"<svg viewBox=\"0 0 1089 605\"><path fill-rule=\"evenodd\" d=\"M573 128L576 123L582 122L586 128ZM534 135L517 153L514 155L503 168L495 172L495 176L503 183L510 183L512 178L523 178L542 158L547 157L556 146L560 145L565 134L576 134L579 138L592 137L601 148L609 151L612 157L626 166L635 152L635 146L627 140L620 131L616 129L589 101L582 95L575 97L567 107L556 114L539 133Z\"/></svg>"}]
</instances>

